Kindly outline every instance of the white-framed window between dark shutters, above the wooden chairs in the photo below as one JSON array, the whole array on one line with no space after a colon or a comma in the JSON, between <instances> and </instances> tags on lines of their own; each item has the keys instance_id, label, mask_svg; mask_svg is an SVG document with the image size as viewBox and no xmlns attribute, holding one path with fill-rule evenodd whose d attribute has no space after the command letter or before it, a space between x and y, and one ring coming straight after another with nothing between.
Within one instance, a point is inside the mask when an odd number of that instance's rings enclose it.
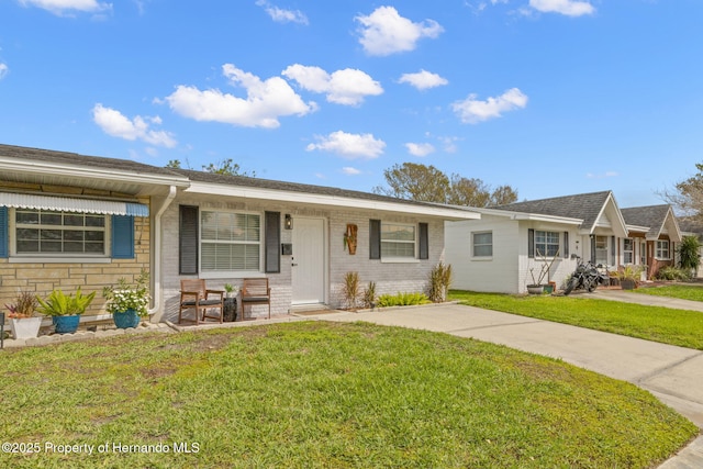
<instances>
[{"instance_id":1,"label":"white-framed window between dark shutters, above the wooden chairs","mask_svg":"<svg viewBox=\"0 0 703 469\"><path fill-rule=\"evenodd\" d=\"M202 271L258 271L261 221L257 214L202 211L200 216Z\"/></svg>"}]
</instances>

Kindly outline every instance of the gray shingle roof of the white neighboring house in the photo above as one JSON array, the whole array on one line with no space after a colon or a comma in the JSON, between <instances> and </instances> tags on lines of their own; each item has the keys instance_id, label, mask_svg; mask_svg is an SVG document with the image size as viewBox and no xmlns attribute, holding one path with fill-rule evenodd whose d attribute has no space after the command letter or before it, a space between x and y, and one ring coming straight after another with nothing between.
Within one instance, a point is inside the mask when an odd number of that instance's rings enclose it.
<instances>
[{"instance_id":1,"label":"gray shingle roof of the white neighboring house","mask_svg":"<svg viewBox=\"0 0 703 469\"><path fill-rule=\"evenodd\" d=\"M590 230L598 221L598 216L611 194L611 191L581 193L515 202L507 205L492 206L491 209L579 219L583 221L581 227Z\"/></svg>"}]
</instances>

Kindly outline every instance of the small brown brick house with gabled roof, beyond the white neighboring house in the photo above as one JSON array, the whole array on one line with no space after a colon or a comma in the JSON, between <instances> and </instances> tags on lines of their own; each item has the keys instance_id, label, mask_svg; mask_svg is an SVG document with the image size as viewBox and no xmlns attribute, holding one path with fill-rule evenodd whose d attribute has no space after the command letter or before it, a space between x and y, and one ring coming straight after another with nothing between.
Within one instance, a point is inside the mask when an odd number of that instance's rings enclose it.
<instances>
[{"instance_id":1,"label":"small brown brick house with gabled roof, beyond the white neighboring house","mask_svg":"<svg viewBox=\"0 0 703 469\"><path fill-rule=\"evenodd\" d=\"M681 231L671 205L622 209L628 236L618 241L621 265L646 266L646 277L654 278L663 266L674 265Z\"/></svg>"}]
</instances>

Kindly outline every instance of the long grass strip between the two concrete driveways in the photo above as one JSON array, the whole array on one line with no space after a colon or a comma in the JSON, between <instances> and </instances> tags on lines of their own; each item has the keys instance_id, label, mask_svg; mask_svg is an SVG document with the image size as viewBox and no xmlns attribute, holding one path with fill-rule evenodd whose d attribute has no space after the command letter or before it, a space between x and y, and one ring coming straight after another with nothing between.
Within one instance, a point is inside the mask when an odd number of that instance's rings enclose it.
<instances>
[{"instance_id":1,"label":"long grass strip between the two concrete driveways","mask_svg":"<svg viewBox=\"0 0 703 469\"><path fill-rule=\"evenodd\" d=\"M573 297L453 290L461 304L703 350L703 313Z\"/></svg>"}]
</instances>

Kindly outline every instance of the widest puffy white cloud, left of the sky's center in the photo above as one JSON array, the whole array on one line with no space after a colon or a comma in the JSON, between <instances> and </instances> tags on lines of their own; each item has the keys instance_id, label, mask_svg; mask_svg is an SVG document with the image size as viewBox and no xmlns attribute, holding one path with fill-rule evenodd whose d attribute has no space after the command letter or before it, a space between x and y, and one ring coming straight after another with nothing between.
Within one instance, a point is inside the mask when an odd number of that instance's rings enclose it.
<instances>
[{"instance_id":1,"label":"widest puffy white cloud, left of the sky's center","mask_svg":"<svg viewBox=\"0 0 703 469\"><path fill-rule=\"evenodd\" d=\"M196 121L222 122L243 127L277 129L278 118L305 115L316 110L316 104L305 103L280 77L261 80L232 64L222 66L222 72L233 86L246 90L246 98L223 93L220 90L199 90L181 85L166 97L178 114Z\"/></svg>"}]
</instances>

